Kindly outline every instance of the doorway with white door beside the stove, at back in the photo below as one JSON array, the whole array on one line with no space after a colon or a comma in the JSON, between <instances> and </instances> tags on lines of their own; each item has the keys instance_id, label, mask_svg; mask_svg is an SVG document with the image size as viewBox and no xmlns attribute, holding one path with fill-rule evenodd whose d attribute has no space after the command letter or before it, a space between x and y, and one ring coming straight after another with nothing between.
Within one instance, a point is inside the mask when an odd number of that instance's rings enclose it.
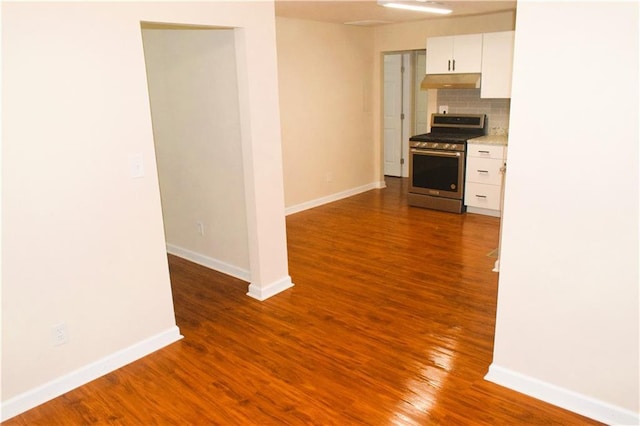
<instances>
[{"instance_id":1,"label":"doorway with white door beside the stove, at back","mask_svg":"<svg viewBox=\"0 0 640 426\"><path fill-rule=\"evenodd\" d=\"M426 51L383 55L384 175L409 176L409 138L427 132L427 92L420 90Z\"/></svg>"}]
</instances>

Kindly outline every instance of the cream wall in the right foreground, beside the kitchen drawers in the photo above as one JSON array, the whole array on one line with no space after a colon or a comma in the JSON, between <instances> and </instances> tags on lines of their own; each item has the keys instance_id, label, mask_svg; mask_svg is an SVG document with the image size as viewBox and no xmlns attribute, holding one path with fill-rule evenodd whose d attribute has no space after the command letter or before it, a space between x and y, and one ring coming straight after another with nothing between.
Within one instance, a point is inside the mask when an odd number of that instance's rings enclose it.
<instances>
[{"instance_id":1,"label":"cream wall in the right foreground, beside the kitchen drawers","mask_svg":"<svg viewBox=\"0 0 640 426\"><path fill-rule=\"evenodd\" d=\"M640 421L638 23L637 2L518 4L488 376L614 424Z\"/></svg>"}]
</instances>

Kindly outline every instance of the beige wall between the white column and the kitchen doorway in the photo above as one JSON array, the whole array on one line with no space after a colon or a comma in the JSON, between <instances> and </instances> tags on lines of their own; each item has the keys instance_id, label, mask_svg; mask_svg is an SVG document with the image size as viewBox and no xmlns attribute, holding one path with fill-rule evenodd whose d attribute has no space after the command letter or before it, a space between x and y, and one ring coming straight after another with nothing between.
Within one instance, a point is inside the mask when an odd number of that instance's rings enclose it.
<instances>
[{"instance_id":1,"label":"beige wall between the white column and the kitchen doorway","mask_svg":"<svg viewBox=\"0 0 640 426\"><path fill-rule=\"evenodd\" d=\"M287 18L276 25L287 207L377 184L372 29Z\"/></svg>"}]
</instances>

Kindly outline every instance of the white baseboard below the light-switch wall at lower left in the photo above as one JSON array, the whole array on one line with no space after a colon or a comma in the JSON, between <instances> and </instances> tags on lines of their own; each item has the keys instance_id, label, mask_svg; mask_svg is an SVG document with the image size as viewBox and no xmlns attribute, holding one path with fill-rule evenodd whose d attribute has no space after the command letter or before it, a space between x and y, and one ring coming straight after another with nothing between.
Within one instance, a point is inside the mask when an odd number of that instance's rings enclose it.
<instances>
[{"instance_id":1,"label":"white baseboard below the light-switch wall at lower left","mask_svg":"<svg viewBox=\"0 0 640 426\"><path fill-rule=\"evenodd\" d=\"M24 413L27 410L87 384L118 368L124 367L180 339L182 339L180 330L178 327L173 326L162 333L135 343L128 348L108 355L76 371L72 371L69 374L3 401L1 421L4 422L18 414Z\"/></svg>"}]
</instances>

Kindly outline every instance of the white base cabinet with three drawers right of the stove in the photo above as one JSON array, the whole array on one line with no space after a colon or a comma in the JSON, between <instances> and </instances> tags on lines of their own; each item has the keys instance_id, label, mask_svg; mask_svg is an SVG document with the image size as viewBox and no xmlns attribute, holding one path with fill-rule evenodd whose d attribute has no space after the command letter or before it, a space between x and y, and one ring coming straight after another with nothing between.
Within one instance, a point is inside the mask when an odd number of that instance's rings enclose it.
<instances>
[{"instance_id":1,"label":"white base cabinet with three drawers right of the stove","mask_svg":"<svg viewBox=\"0 0 640 426\"><path fill-rule=\"evenodd\" d=\"M469 213L500 216L506 149L468 143L464 204Z\"/></svg>"}]
</instances>

